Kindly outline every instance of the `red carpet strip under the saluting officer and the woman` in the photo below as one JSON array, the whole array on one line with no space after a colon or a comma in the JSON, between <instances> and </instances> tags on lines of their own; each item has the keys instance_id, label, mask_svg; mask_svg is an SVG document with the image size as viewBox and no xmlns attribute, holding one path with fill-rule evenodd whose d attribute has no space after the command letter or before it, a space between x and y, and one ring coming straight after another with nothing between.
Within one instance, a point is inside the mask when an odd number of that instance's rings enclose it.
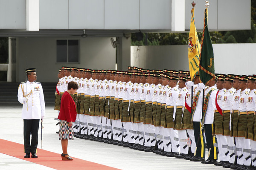
<instances>
[{"instance_id":1,"label":"red carpet strip under the saluting officer and the woman","mask_svg":"<svg viewBox=\"0 0 256 170\"><path fill-rule=\"evenodd\" d=\"M24 145L15 142L6 141L0 139L0 153L4 153L9 156L14 156L25 161L30 161L36 164L41 164L46 167L51 167L57 170L73 170L83 168L86 170L118 170L113 167L108 167L102 164L97 164L82 159L73 158L73 161L62 161L61 155L54 152L49 152L43 149L37 149L38 158L23 158Z\"/></svg>"}]
</instances>

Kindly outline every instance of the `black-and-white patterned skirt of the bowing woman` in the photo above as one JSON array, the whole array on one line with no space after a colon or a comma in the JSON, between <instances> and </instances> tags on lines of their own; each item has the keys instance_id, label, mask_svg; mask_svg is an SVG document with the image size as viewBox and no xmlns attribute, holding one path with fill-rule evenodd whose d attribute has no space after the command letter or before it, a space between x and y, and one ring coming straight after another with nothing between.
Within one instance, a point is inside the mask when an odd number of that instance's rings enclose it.
<instances>
[{"instance_id":1,"label":"black-and-white patterned skirt of the bowing woman","mask_svg":"<svg viewBox=\"0 0 256 170\"><path fill-rule=\"evenodd\" d=\"M73 127L68 126L66 120L60 120L60 131L59 131L59 140L69 139L74 140Z\"/></svg>"}]
</instances>

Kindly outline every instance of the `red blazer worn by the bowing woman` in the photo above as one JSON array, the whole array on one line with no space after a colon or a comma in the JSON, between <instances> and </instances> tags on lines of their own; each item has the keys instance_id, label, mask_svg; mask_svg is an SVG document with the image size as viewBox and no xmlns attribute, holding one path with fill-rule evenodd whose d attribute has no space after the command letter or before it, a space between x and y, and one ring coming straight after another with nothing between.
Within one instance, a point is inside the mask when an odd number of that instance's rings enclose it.
<instances>
[{"instance_id":1,"label":"red blazer worn by the bowing woman","mask_svg":"<svg viewBox=\"0 0 256 170\"><path fill-rule=\"evenodd\" d=\"M76 121L76 104L67 91L61 97L61 109L58 119L67 120L67 122Z\"/></svg>"}]
</instances>

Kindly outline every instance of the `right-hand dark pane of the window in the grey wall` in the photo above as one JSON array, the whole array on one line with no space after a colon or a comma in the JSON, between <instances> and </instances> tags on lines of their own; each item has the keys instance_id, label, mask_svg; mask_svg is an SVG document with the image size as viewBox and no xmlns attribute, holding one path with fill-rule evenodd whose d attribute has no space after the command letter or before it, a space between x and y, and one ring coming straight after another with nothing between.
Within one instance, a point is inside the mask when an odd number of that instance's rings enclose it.
<instances>
[{"instance_id":1,"label":"right-hand dark pane of the window in the grey wall","mask_svg":"<svg viewBox=\"0 0 256 170\"><path fill-rule=\"evenodd\" d=\"M68 62L78 62L78 40L68 40Z\"/></svg>"}]
</instances>

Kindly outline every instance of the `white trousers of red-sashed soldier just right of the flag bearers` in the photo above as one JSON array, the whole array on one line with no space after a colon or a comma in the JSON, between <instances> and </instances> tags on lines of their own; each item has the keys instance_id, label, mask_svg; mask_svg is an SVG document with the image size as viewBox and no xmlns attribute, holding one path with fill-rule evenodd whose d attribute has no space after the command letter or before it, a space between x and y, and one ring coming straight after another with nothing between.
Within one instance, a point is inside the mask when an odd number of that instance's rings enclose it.
<instances>
[{"instance_id":1,"label":"white trousers of red-sashed soldier just right of the flag bearers","mask_svg":"<svg viewBox=\"0 0 256 170\"><path fill-rule=\"evenodd\" d=\"M229 154L227 154L227 156L225 155L225 153L227 153L227 137L223 136L223 135L216 135L217 137L217 142L218 142L218 159L220 161L229 161L230 156ZM208 145L208 147L210 147Z\"/></svg>"}]
</instances>

